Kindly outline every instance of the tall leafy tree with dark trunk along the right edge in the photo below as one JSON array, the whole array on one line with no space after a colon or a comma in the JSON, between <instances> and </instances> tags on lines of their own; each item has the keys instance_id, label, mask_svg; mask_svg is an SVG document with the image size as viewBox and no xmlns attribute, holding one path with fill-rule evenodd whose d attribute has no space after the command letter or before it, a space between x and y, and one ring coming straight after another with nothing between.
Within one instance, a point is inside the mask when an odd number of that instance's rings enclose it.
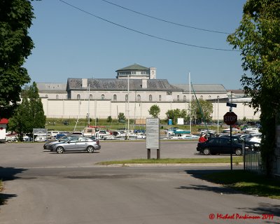
<instances>
[{"instance_id":1,"label":"tall leafy tree with dark trunk along the right edge","mask_svg":"<svg viewBox=\"0 0 280 224\"><path fill-rule=\"evenodd\" d=\"M241 50L241 85L252 97L249 106L261 111L261 155L267 174L272 172L276 146L276 118L280 104L280 0L248 0L235 33L228 36Z\"/></svg>"}]
</instances>

